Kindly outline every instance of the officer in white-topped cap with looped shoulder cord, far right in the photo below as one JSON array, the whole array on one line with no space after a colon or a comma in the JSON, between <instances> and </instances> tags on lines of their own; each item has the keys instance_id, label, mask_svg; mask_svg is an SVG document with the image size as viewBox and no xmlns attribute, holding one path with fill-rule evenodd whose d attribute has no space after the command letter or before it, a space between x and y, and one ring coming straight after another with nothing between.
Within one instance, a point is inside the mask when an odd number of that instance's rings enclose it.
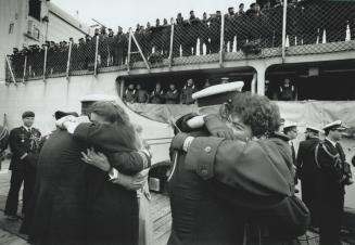
<instances>
[{"instance_id":1,"label":"officer in white-topped cap with looped shoulder cord, far right","mask_svg":"<svg viewBox=\"0 0 355 245\"><path fill-rule=\"evenodd\" d=\"M319 171L317 203L319 211L320 245L341 244L341 223L344 210L345 184L351 184L345 154L338 142L345 128L341 120L326 125L326 139L316 147L315 156Z\"/></svg>"}]
</instances>

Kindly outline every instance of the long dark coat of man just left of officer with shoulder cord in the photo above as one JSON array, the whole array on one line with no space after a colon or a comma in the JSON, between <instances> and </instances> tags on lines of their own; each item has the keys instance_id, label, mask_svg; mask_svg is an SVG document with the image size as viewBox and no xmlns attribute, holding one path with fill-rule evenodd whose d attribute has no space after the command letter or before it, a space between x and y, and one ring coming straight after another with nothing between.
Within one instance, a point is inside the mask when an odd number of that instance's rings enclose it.
<instances>
[{"instance_id":1,"label":"long dark coat of man just left of officer with shoulder cord","mask_svg":"<svg viewBox=\"0 0 355 245\"><path fill-rule=\"evenodd\" d=\"M317 224L316 183L319 168L315 160L315 149L319 143L319 138L310 138L300 142L297 152L297 176L302 184L302 201L307 205L312 216L312 223Z\"/></svg>"}]
</instances>

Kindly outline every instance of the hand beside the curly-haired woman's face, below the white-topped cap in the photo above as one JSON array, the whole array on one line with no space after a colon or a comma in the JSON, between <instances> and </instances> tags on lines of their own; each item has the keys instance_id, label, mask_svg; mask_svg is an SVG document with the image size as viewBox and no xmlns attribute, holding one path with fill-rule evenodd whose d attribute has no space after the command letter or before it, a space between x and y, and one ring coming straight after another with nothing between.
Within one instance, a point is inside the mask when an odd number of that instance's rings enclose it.
<instances>
[{"instance_id":1,"label":"hand beside the curly-haired woman's face, below the white-topped cap","mask_svg":"<svg viewBox=\"0 0 355 245\"><path fill-rule=\"evenodd\" d=\"M229 129L216 115L204 117L205 127L213 137L225 138L227 140L236 140L232 130Z\"/></svg>"}]
</instances>

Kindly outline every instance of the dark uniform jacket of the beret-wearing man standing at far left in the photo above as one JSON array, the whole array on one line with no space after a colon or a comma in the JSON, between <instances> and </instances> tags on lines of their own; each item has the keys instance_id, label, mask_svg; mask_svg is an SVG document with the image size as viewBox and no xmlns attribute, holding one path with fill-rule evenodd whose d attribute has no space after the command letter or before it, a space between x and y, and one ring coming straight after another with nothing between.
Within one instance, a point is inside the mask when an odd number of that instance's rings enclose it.
<instances>
[{"instance_id":1,"label":"dark uniform jacket of the beret-wearing man standing at far left","mask_svg":"<svg viewBox=\"0 0 355 245\"><path fill-rule=\"evenodd\" d=\"M35 167L40 149L41 134L36 128L30 132L23 126L14 128L10 132L9 143L12 152L10 170L25 170ZM27 154L27 156L26 156Z\"/></svg>"}]
</instances>

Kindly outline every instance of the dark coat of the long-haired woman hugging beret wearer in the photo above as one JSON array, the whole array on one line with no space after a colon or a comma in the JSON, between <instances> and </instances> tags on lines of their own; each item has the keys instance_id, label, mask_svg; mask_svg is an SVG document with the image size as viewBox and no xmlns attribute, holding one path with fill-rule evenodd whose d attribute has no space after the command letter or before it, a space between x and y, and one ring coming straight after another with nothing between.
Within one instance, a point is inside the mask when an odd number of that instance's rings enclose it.
<instances>
[{"instance_id":1,"label":"dark coat of the long-haired woman hugging beret wearer","mask_svg":"<svg viewBox=\"0 0 355 245\"><path fill-rule=\"evenodd\" d=\"M134 152L134 128L80 124L73 137L107 155L110 163L115 163L114 167L123 173L135 175L150 167L150 159L144 153ZM96 167L87 169L86 188L88 243L137 244L139 212L136 191L107 181L107 173Z\"/></svg>"}]
</instances>

